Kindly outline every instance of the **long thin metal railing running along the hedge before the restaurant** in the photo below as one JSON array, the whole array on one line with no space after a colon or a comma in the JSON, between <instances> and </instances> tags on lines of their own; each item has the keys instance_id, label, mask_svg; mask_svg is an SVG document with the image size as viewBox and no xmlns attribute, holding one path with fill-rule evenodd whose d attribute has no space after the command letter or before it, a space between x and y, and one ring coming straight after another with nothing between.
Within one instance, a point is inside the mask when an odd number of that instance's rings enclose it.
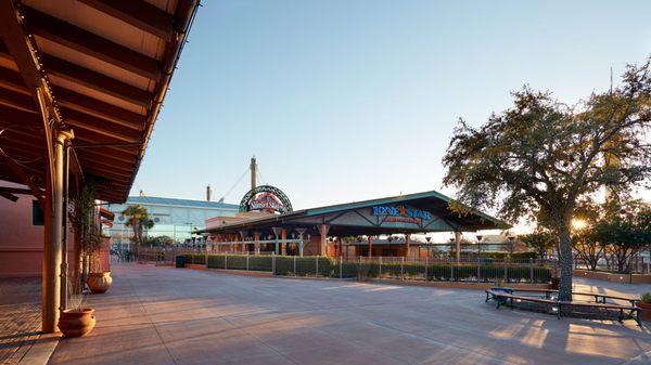
<instances>
[{"instance_id":1,"label":"long thin metal railing running along the hedge before the restaurant","mask_svg":"<svg viewBox=\"0 0 651 365\"><path fill-rule=\"evenodd\" d=\"M297 257L277 255L238 255L178 252L190 264L208 269L270 272L284 276L326 276L356 279L400 279L475 283L549 283L548 262L484 259L455 262L446 259L405 257Z\"/></svg>"}]
</instances>

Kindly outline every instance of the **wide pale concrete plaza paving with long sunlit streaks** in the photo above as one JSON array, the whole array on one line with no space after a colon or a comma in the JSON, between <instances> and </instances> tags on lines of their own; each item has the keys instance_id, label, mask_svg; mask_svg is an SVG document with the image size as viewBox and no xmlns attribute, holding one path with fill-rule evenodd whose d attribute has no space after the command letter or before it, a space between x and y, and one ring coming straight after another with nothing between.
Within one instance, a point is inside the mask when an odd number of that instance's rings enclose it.
<instances>
[{"instance_id":1,"label":"wide pale concrete plaza paving with long sunlit streaks","mask_svg":"<svg viewBox=\"0 0 651 365\"><path fill-rule=\"evenodd\" d=\"M647 364L635 322L496 310L477 290L113 268L98 326L50 364ZM604 290L580 281L582 290Z\"/></svg>"}]
</instances>

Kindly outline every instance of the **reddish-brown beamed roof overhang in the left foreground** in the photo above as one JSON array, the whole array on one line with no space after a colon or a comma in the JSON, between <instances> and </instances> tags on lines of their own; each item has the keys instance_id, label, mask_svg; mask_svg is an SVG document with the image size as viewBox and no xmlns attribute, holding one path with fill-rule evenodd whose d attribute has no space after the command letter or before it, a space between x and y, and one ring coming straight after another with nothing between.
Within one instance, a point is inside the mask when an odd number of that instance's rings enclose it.
<instances>
[{"instance_id":1,"label":"reddish-brown beamed roof overhang in the left foreground","mask_svg":"<svg viewBox=\"0 0 651 365\"><path fill-rule=\"evenodd\" d=\"M197 6L0 0L0 180L44 188L49 127L63 126L71 171L125 201Z\"/></svg>"}]
</instances>

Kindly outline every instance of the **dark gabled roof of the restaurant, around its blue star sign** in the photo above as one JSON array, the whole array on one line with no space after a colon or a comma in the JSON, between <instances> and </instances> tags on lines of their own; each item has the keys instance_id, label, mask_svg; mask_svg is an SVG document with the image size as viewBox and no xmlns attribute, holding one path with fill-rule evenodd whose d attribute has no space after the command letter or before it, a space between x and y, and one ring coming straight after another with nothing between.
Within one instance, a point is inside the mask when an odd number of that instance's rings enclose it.
<instances>
[{"instance_id":1,"label":"dark gabled roof of the restaurant, around its blue star sign","mask_svg":"<svg viewBox=\"0 0 651 365\"><path fill-rule=\"evenodd\" d=\"M333 236L350 236L350 235L378 235L393 233L418 233L418 232L446 232L446 231L462 231L472 232L478 230L497 230L508 229L510 224L500 221L486 213L470 209L468 213L460 216L449 209L449 203L454 199L435 191L398 195L380 199L371 199L365 201L340 204L327 207L311 208L294 211L291 213L279 214L273 217L247 220L241 223L226 224L222 226L197 231L197 233L240 233L241 231L258 231L266 233L271 231L272 226L284 227L306 227L311 232L317 232L318 224L329 224L330 233ZM348 213L359 214L360 211L367 211L375 206L397 206L406 205L412 208L422 209L431 212L434 216L433 221L438 221L442 224L435 225L413 225L411 227L386 226L372 224L368 219L360 221L357 219L355 223L346 220ZM369 223L369 224L367 224Z\"/></svg>"}]
</instances>

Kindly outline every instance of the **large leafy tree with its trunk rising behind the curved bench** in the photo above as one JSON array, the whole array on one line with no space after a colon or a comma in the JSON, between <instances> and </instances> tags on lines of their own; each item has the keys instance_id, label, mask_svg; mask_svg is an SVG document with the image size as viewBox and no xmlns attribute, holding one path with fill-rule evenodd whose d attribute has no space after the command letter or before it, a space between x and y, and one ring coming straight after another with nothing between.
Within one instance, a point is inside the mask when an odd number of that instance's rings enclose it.
<instances>
[{"instance_id":1,"label":"large leafy tree with its trunk rising behind the curved bench","mask_svg":"<svg viewBox=\"0 0 651 365\"><path fill-rule=\"evenodd\" d=\"M651 172L650 62L575 106L525 87L483 126L461 119L444 156L444 184L458 188L461 204L513 221L548 218L559 238L561 300L572 299L571 220L579 203L603 185L626 191ZM617 164L604 164L607 155Z\"/></svg>"}]
</instances>

